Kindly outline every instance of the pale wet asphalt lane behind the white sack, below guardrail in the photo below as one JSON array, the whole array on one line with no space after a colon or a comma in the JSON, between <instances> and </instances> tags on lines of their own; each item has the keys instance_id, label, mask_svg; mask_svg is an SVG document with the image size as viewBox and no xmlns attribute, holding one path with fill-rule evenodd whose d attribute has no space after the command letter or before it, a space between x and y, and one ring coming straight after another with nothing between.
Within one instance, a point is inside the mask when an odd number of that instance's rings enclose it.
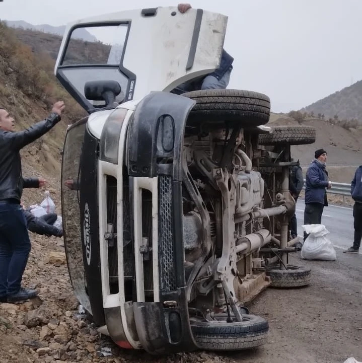
<instances>
[{"instance_id":1,"label":"pale wet asphalt lane behind the white sack, below guardrail","mask_svg":"<svg viewBox=\"0 0 362 363\"><path fill-rule=\"evenodd\" d=\"M303 236L304 200L298 200L296 215L298 235ZM339 205L324 207L322 224L329 231L327 235L336 249L346 249L353 245L353 209ZM361 252L359 252L361 253Z\"/></svg>"}]
</instances>

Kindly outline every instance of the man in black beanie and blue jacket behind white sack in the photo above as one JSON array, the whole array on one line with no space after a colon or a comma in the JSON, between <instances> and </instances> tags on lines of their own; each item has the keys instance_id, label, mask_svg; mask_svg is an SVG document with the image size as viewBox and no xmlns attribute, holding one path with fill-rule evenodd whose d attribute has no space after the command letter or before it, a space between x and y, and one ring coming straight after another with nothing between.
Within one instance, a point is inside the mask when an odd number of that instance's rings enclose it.
<instances>
[{"instance_id":1,"label":"man in black beanie and blue jacket behind white sack","mask_svg":"<svg viewBox=\"0 0 362 363\"><path fill-rule=\"evenodd\" d=\"M314 158L315 160L312 161L306 174L305 225L321 224L324 206L328 205L326 188L330 189L332 187L326 172L327 152L318 149L314 153ZM308 234L304 233L304 240L307 237Z\"/></svg>"}]
</instances>

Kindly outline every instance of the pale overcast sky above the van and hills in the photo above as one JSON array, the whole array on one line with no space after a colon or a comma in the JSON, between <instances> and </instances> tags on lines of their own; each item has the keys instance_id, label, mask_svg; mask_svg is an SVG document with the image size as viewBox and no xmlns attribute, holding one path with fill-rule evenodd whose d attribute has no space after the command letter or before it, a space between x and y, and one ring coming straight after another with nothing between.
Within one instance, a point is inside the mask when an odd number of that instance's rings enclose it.
<instances>
[{"instance_id":1,"label":"pale overcast sky above the van and hills","mask_svg":"<svg viewBox=\"0 0 362 363\"><path fill-rule=\"evenodd\" d=\"M170 0L4 0L0 19L63 25ZM361 0L193 0L229 17L229 88L267 94L274 112L300 109L362 79Z\"/></svg>"}]
</instances>

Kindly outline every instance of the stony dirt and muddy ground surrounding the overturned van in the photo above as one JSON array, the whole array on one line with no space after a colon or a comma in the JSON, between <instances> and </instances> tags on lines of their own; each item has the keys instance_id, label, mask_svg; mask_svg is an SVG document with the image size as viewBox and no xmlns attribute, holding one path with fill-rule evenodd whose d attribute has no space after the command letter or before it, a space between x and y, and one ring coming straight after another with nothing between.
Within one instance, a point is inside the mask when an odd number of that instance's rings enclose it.
<instances>
[{"instance_id":1,"label":"stony dirt and muddy ground surrounding the overturned van","mask_svg":"<svg viewBox=\"0 0 362 363\"><path fill-rule=\"evenodd\" d=\"M51 178L48 182L59 208L57 182ZM26 190L24 201L40 202L42 192ZM249 306L252 314L263 316L270 324L268 342L258 349L155 357L118 349L97 334L78 312L62 239L32 234L31 240L24 284L36 286L42 302L0 304L2 363L342 363L350 356L362 361L361 255L343 256L338 251L337 262L309 262L297 254L292 256L292 263L313 269L312 284L290 290L268 288ZM102 347L110 348L112 355L99 356Z\"/></svg>"}]
</instances>

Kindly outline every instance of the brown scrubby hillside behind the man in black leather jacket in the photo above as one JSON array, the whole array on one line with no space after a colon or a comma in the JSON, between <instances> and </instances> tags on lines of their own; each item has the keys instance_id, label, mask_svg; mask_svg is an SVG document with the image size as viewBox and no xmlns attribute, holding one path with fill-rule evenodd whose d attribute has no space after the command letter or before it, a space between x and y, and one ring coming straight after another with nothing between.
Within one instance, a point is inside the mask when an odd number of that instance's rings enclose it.
<instances>
[{"instance_id":1,"label":"brown scrubby hillside behind the man in black leather jacket","mask_svg":"<svg viewBox=\"0 0 362 363\"><path fill-rule=\"evenodd\" d=\"M63 100L66 111L62 121L49 133L23 151L26 171L59 175L60 151L68 124L85 115L53 76L54 61L44 53L34 53L21 43L14 30L0 23L0 105L24 129L46 117L51 105Z\"/></svg>"}]
</instances>

